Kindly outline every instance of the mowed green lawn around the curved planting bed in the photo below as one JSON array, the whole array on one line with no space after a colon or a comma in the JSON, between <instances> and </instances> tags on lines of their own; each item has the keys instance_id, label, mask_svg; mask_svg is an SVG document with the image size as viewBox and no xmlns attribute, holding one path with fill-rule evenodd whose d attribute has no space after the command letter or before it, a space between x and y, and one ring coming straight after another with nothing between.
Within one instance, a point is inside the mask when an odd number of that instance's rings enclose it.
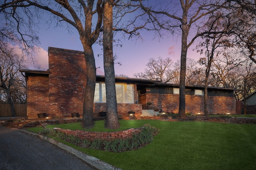
<instances>
[{"instance_id":1,"label":"mowed green lawn around the curved planting bed","mask_svg":"<svg viewBox=\"0 0 256 170\"><path fill-rule=\"evenodd\" d=\"M152 143L138 150L113 153L70 146L122 170L256 169L256 125L122 120L118 130L146 123L160 129L160 133ZM79 123L48 127L81 128ZM104 129L104 121L97 121L90 131L109 130Z\"/></svg>"}]
</instances>

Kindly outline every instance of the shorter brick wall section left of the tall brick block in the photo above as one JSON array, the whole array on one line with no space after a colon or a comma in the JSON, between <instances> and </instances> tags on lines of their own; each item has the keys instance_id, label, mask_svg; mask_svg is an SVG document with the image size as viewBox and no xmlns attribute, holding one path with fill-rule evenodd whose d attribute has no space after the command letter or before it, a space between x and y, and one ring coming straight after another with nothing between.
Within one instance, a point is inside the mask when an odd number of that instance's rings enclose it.
<instances>
[{"instance_id":1,"label":"shorter brick wall section left of the tall brick block","mask_svg":"<svg viewBox=\"0 0 256 170\"><path fill-rule=\"evenodd\" d=\"M29 118L38 118L38 113L48 113L48 84L48 77L28 77L27 111Z\"/></svg>"}]
</instances>

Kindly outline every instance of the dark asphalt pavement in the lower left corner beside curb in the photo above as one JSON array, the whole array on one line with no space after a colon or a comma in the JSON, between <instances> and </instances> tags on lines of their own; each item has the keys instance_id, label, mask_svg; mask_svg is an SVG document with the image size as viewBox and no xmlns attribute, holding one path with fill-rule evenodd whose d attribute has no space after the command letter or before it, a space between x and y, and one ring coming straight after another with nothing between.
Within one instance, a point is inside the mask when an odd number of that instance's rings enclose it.
<instances>
[{"instance_id":1,"label":"dark asphalt pavement in the lower left corner beside curb","mask_svg":"<svg viewBox=\"0 0 256 170\"><path fill-rule=\"evenodd\" d=\"M0 126L0 170L96 170L96 168L34 135Z\"/></svg>"}]
</instances>

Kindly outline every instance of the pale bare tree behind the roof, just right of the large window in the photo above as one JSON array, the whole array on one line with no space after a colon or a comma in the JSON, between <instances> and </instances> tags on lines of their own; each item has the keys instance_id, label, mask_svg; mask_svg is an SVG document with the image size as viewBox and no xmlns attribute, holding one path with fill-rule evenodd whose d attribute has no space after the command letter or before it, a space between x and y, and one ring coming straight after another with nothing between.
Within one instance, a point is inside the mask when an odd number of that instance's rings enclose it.
<instances>
[{"instance_id":1,"label":"pale bare tree behind the roof, just right of the large window","mask_svg":"<svg viewBox=\"0 0 256 170\"><path fill-rule=\"evenodd\" d=\"M149 80L160 80L160 82L168 83L174 78L171 66L172 60L168 57L163 59L158 57L158 60L150 58L146 64L144 72L134 74L136 78L149 79Z\"/></svg>"}]
</instances>

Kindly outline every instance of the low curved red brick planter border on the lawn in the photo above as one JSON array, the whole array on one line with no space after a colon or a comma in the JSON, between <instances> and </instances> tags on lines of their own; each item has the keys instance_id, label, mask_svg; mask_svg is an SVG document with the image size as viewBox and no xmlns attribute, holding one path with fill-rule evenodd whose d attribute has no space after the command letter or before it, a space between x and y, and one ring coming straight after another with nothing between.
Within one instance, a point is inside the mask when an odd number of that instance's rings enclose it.
<instances>
[{"instance_id":1,"label":"low curved red brick planter border on the lawn","mask_svg":"<svg viewBox=\"0 0 256 170\"><path fill-rule=\"evenodd\" d=\"M138 129L128 129L125 131L117 131L117 132L89 132L89 131L81 131L76 130L72 131L69 129L60 129L57 127L54 127L54 130L62 131L67 135L74 135L76 137L79 137L81 139L87 139L90 141L93 141L94 139L102 139L102 140L115 140L115 139L127 139L129 137L132 137L132 134L134 133L140 133L142 127L139 127Z\"/></svg>"}]
</instances>

